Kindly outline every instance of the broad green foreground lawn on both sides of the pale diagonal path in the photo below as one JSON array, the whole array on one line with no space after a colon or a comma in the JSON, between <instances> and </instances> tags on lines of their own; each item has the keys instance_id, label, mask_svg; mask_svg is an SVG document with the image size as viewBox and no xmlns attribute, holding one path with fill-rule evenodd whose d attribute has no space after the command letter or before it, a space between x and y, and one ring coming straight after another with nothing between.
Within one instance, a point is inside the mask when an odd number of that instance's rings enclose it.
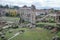
<instances>
[{"instance_id":1,"label":"broad green foreground lawn on both sides of the pale diagonal path","mask_svg":"<svg viewBox=\"0 0 60 40\"><path fill-rule=\"evenodd\" d=\"M10 38L18 32L19 30L25 30L24 33L19 34L15 38L11 40L51 40L53 35L50 33L49 30L43 29L43 28L34 28L34 29L28 29L28 28L18 28L18 29L13 29L12 33L7 32L6 37Z\"/></svg>"}]
</instances>

